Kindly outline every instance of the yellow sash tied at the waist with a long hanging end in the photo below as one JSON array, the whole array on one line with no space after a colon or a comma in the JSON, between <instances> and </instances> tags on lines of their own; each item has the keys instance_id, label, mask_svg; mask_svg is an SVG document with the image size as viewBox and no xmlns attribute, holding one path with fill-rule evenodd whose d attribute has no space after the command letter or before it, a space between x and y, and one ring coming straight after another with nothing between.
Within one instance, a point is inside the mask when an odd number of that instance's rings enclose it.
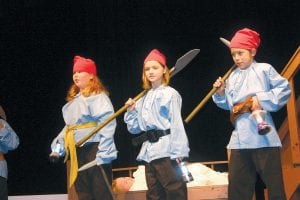
<instances>
[{"instance_id":1,"label":"yellow sash tied at the waist with a long hanging end","mask_svg":"<svg viewBox=\"0 0 300 200\"><path fill-rule=\"evenodd\" d=\"M76 147L75 147L75 140L74 140L74 130L90 128L96 125L97 122L88 122L83 124L75 124L75 125L67 126L64 139L65 139L65 149L66 149L65 162L67 161L70 155L69 187L72 187L72 185L74 184L78 173L78 162L77 162L77 154L76 154Z\"/></svg>"}]
</instances>

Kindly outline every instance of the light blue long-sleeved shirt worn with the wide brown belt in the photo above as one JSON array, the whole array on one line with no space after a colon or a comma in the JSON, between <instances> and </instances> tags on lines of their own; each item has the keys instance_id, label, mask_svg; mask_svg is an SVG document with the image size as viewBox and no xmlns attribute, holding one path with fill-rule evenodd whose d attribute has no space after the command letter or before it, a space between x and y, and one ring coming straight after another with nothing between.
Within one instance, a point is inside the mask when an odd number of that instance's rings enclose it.
<instances>
[{"instance_id":1,"label":"light blue long-sleeved shirt worn with the wide brown belt","mask_svg":"<svg viewBox=\"0 0 300 200\"><path fill-rule=\"evenodd\" d=\"M263 110L267 111L265 121L271 126L266 135L259 135L257 124L251 119L251 113L241 115L235 121L229 149L254 149L281 146L270 112L282 108L290 97L288 81L267 63L253 62L248 68L236 68L225 82L225 95L213 95L218 107L231 110L233 105L244 101L248 96L257 96Z\"/></svg>"}]
</instances>

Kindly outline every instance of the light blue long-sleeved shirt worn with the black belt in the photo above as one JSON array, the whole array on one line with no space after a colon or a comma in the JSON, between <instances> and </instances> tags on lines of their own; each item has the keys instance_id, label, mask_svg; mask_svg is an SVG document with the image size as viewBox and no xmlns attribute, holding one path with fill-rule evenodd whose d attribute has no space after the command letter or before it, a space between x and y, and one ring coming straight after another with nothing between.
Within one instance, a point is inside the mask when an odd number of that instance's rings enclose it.
<instances>
[{"instance_id":1,"label":"light blue long-sleeved shirt worn with the black belt","mask_svg":"<svg viewBox=\"0 0 300 200\"><path fill-rule=\"evenodd\" d=\"M175 89L161 85L150 89L132 111L125 113L124 121L132 134L152 129L171 131L155 143L144 142L137 160L149 163L163 157L188 157L190 149L181 117L181 103L181 96Z\"/></svg>"}]
</instances>

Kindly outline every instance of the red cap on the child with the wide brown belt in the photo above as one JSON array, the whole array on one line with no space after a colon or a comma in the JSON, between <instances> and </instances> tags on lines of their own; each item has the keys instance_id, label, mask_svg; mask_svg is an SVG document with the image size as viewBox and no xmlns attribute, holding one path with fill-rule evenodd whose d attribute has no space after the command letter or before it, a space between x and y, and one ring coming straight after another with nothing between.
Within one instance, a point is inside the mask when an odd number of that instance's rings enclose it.
<instances>
[{"instance_id":1,"label":"red cap on the child with the wide brown belt","mask_svg":"<svg viewBox=\"0 0 300 200\"><path fill-rule=\"evenodd\" d=\"M235 33L230 41L230 48L257 49L260 45L259 34L249 28L244 28Z\"/></svg>"}]
</instances>

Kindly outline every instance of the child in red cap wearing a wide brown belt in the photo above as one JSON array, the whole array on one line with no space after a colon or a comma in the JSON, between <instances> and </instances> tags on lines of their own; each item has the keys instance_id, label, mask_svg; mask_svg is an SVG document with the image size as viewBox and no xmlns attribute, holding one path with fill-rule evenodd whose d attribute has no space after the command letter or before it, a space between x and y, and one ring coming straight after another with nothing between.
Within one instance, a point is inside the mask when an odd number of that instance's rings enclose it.
<instances>
[{"instance_id":1,"label":"child in red cap wearing a wide brown belt","mask_svg":"<svg viewBox=\"0 0 300 200\"><path fill-rule=\"evenodd\" d=\"M252 199L257 174L268 189L269 199L286 199L281 141L270 112L278 111L287 103L291 90L288 81L270 64L254 60L259 45L260 37L256 31L248 28L237 31L229 44L236 69L225 83L219 77L213 85L218 88L213 101L234 116L234 130L227 146L230 149L230 200ZM257 124L251 119L254 110L266 112L265 121L270 126L268 134L258 134Z\"/></svg>"}]
</instances>

